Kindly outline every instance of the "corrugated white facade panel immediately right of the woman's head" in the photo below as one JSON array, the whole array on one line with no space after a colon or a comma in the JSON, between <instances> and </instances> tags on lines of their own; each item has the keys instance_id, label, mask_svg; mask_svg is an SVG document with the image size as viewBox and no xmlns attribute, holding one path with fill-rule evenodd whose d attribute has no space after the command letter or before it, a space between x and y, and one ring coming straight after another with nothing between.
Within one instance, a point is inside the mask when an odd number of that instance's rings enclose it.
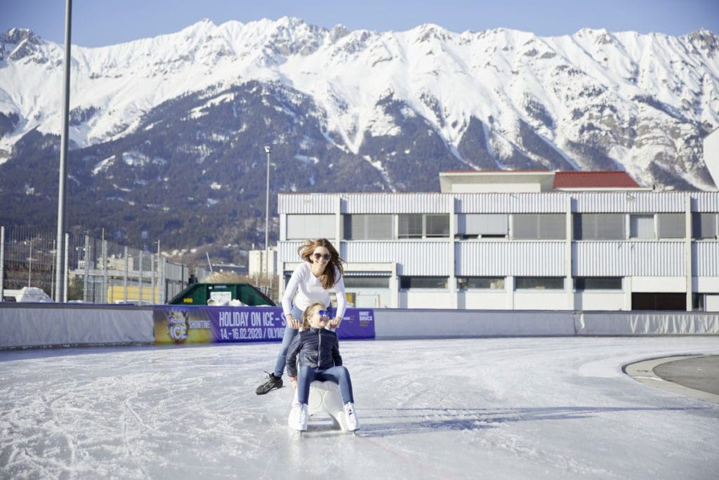
<instances>
[{"instance_id":1,"label":"corrugated white facade panel immediately right of the woman's head","mask_svg":"<svg viewBox=\"0 0 719 480\"><path fill-rule=\"evenodd\" d=\"M348 242L344 260L352 263L398 263L398 275L449 276L449 242Z\"/></svg>"}]
</instances>

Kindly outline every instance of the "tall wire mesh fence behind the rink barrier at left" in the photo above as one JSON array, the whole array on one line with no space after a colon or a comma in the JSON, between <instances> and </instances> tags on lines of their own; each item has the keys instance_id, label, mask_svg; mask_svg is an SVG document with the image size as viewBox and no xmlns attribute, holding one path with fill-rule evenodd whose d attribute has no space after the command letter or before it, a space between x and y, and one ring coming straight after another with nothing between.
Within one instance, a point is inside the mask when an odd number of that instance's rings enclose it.
<instances>
[{"instance_id":1,"label":"tall wire mesh fence behind the rink barrier at left","mask_svg":"<svg viewBox=\"0 0 719 480\"><path fill-rule=\"evenodd\" d=\"M188 284L190 268L160 253L89 236L66 235L64 301L164 304ZM55 291L55 234L0 227L0 296L25 286Z\"/></svg>"}]
</instances>

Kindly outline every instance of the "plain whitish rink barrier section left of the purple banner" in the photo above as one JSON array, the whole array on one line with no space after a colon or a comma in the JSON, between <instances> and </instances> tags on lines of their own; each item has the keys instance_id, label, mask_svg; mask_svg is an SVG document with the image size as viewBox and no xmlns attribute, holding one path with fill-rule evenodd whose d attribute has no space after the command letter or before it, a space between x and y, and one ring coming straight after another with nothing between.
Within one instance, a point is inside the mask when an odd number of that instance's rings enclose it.
<instances>
[{"instance_id":1,"label":"plain whitish rink barrier section left of the purple banner","mask_svg":"<svg viewBox=\"0 0 719 480\"><path fill-rule=\"evenodd\" d=\"M151 308L0 304L0 348L154 343Z\"/></svg>"}]
</instances>

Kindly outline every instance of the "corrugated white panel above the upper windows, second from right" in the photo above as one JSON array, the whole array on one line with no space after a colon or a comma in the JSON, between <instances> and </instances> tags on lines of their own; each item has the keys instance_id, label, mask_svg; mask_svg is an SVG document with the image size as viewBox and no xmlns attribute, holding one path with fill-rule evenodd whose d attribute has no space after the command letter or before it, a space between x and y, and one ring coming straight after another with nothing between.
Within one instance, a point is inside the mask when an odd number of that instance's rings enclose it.
<instances>
[{"instance_id":1,"label":"corrugated white panel above the upper windows, second from right","mask_svg":"<svg viewBox=\"0 0 719 480\"><path fill-rule=\"evenodd\" d=\"M582 191L572 193L574 212L684 212L681 191Z\"/></svg>"}]
</instances>

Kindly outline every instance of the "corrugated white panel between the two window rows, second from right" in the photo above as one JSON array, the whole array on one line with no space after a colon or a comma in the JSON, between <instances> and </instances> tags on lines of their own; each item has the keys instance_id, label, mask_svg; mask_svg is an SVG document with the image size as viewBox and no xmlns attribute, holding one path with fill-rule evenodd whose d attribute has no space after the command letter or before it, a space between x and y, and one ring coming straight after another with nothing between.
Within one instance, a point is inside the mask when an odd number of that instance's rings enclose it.
<instances>
[{"instance_id":1,"label":"corrugated white panel between the two window rows, second from right","mask_svg":"<svg viewBox=\"0 0 719 480\"><path fill-rule=\"evenodd\" d=\"M683 276L684 242L574 242L573 276Z\"/></svg>"}]
</instances>

